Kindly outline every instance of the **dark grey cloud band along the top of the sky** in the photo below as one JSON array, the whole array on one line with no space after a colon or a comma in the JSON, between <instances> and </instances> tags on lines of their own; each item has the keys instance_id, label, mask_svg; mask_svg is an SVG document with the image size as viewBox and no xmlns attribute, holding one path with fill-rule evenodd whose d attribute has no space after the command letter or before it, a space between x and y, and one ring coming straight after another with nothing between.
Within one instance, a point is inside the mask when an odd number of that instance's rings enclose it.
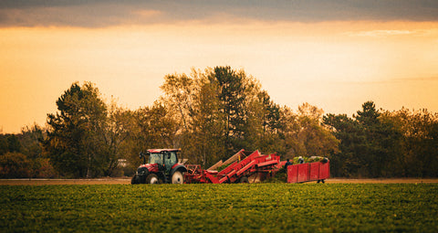
<instances>
[{"instance_id":1,"label":"dark grey cloud band along the top of the sky","mask_svg":"<svg viewBox=\"0 0 438 233\"><path fill-rule=\"evenodd\" d=\"M141 14L139 14L141 13ZM117 26L187 21L438 21L433 0L2 0L0 26Z\"/></svg>"}]
</instances>

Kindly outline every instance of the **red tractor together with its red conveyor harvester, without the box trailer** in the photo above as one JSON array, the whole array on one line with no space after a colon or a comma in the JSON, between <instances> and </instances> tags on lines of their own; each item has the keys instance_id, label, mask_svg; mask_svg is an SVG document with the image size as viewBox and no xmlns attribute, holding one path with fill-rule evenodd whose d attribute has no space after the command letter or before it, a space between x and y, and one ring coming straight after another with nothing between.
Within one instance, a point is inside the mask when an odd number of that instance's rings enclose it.
<instances>
[{"instance_id":1,"label":"red tractor together with its red conveyor harvester, without the box trailer","mask_svg":"<svg viewBox=\"0 0 438 233\"><path fill-rule=\"evenodd\" d=\"M178 163L177 149L152 149L140 154L143 164L131 179L131 184L183 184L183 183L248 183L250 176L272 175L281 167L280 156L260 154L258 151L239 151L222 164L220 172L211 167L201 169L201 165ZM146 156L149 162L146 163ZM283 163L284 164L284 163Z\"/></svg>"}]
</instances>

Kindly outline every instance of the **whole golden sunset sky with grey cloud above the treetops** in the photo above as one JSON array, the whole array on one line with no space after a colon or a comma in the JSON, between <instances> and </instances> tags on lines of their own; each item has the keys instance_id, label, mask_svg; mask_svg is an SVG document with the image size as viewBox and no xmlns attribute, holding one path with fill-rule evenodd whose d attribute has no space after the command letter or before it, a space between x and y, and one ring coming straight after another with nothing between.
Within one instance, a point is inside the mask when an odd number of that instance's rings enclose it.
<instances>
[{"instance_id":1,"label":"whole golden sunset sky with grey cloud above the treetops","mask_svg":"<svg viewBox=\"0 0 438 233\"><path fill-rule=\"evenodd\" d=\"M326 113L438 112L438 1L0 1L0 133L90 81L136 110L163 77L231 66L273 101Z\"/></svg>"}]
</instances>

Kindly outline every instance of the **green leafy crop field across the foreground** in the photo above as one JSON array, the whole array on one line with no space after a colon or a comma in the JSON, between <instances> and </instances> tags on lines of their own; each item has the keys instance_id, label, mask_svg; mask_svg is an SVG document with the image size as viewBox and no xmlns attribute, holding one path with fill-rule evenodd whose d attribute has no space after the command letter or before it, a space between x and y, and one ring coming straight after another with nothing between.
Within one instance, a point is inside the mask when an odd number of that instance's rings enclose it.
<instances>
[{"instance_id":1,"label":"green leafy crop field across the foreground","mask_svg":"<svg viewBox=\"0 0 438 233\"><path fill-rule=\"evenodd\" d=\"M0 231L438 232L438 184L0 186Z\"/></svg>"}]
</instances>

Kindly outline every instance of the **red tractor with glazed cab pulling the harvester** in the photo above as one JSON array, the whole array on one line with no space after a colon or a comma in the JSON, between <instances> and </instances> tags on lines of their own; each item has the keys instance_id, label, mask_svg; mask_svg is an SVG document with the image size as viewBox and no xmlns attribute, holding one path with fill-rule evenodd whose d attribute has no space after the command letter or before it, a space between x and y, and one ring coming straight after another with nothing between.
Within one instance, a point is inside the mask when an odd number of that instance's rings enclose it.
<instances>
[{"instance_id":1,"label":"red tractor with glazed cab pulling the harvester","mask_svg":"<svg viewBox=\"0 0 438 233\"><path fill-rule=\"evenodd\" d=\"M183 184L183 174L187 168L178 164L178 152L178 149L152 149L146 154L140 153L143 164L137 169L130 184ZM149 156L148 164L146 156Z\"/></svg>"}]
</instances>

